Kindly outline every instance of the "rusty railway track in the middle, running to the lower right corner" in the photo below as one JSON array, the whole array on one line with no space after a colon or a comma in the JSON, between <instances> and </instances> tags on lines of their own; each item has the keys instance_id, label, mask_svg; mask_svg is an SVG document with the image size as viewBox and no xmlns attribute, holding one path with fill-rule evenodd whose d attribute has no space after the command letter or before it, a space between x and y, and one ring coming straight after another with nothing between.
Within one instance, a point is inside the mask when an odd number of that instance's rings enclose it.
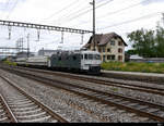
<instances>
[{"instance_id":1,"label":"rusty railway track in the middle, running to the lower right corner","mask_svg":"<svg viewBox=\"0 0 164 126\"><path fill-rule=\"evenodd\" d=\"M11 71L11 70L8 70ZM139 116L148 117L149 119L155 122L164 122L164 105L147 102L143 100L133 99L130 97L125 97L117 93L104 92L83 86L73 85L70 83L63 83L62 80L54 80L44 76L38 76L33 72L20 72L12 70L15 74L27 77L30 79L37 80L39 83L50 85L56 88L65 89L67 91L74 92L87 99L95 100L107 105L117 106L118 109L126 110L130 113L136 113Z\"/></svg>"}]
</instances>

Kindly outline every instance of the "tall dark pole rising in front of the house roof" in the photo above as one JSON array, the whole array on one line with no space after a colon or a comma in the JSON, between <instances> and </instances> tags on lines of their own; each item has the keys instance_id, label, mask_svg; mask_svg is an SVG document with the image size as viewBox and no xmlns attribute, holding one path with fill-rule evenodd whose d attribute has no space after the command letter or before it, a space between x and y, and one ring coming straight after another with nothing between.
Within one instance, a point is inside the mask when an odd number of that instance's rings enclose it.
<instances>
[{"instance_id":1,"label":"tall dark pole rising in front of the house roof","mask_svg":"<svg viewBox=\"0 0 164 126\"><path fill-rule=\"evenodd\" d=\"M95 51L95 0L90 4L93 5L93 50Z\"/></svg>"}]
</instances>

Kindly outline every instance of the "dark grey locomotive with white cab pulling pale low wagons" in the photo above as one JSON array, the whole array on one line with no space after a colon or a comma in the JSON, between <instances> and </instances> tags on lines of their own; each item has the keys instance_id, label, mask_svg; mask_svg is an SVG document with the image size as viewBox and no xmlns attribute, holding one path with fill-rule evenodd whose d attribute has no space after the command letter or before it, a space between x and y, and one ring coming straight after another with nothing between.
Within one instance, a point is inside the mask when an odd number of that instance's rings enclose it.
<instances>
[{"instance_id":1,"label":"dark grey locomotive with white cab pulling pale low wagons","mask_svg":"<svg viewBox=\"0 0 164 126\"><path fill-rule=\"evenodd\" d=\"M50 56L17 58L17 65L101 73L101 54L97 51L58 51Z\"/></svg>"}]
</instances>

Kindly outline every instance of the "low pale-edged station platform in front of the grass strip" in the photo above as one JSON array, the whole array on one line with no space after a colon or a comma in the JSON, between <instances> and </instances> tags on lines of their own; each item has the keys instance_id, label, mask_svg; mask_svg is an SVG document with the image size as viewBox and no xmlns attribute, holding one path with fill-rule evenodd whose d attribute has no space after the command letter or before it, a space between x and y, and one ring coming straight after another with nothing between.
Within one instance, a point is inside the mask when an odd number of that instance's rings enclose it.
<instances>
[{"instance_id":1,"label":"low pale-edged station platform in front of the grass strip","mask_svg":"<svg viewBox=\"0 0 164 126\"><path fill-rule=\"evenodd\" d=\"M142 80L142 81L157 83L157 84L164 85L164 74L139 73L139 72L117 72L117 71L104 71L104 70L102 70L101 72L104 77L130 79L130 80Z\"/></svg>"}]
</instances>

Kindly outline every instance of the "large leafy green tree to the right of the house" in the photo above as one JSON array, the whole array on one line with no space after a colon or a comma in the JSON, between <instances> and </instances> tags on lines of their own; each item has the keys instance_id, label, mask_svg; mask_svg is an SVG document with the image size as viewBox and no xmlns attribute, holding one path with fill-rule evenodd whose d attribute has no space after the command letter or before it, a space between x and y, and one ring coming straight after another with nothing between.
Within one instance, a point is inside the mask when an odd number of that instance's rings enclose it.
<instances>
[{"instance_id":1,"label":"large leafy green tree to the right of the house","mask_svg":"<svg viewBox=\"0 0 164 126\"><path fill-rule=\"evenodd\" d=\"M164 58L164 29L156 30L140 29L128 35L137 54L144 58Z\"/></svg>"}]
</instances>

